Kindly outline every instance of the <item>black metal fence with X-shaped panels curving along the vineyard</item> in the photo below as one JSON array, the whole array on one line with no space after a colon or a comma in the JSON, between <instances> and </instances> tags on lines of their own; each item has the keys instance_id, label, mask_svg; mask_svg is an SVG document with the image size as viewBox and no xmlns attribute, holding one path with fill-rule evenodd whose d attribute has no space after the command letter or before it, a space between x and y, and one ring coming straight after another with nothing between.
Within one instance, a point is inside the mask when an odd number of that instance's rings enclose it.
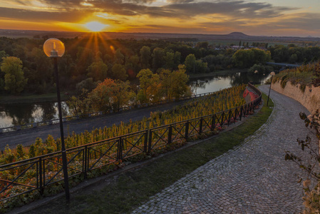
<instances>
[{"instance_id":1,"label":"black metal fence with X-shaped panels curving along the vineyard","mask_svg":"<svg viewBox=\"0 0 320 214\"><path fill-rule=\"evenodd\" d=\"M128 158L185 142L192 136L241 121L244 116L254 112L262 98L257 88L251 84L249 87L259 97L243 106L67 149L69 178L77 175L86 178L93 170L108 168ZM34 190L43 194L48 186L63 183L61 152L1 165L0 175L0 202Z\"/></svg>"}]
</instances>

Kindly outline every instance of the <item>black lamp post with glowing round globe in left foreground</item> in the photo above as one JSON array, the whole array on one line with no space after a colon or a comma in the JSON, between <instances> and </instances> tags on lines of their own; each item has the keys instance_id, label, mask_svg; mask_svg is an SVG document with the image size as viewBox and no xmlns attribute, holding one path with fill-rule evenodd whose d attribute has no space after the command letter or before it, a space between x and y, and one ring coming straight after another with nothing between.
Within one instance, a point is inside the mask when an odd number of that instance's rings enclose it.
<instances>
[{"instance_id":1,"label":"black lamp post with glowing round globe in left foreground","mask_svg":"<svg viewBox=\"0 0 320 214\"><path fill-rule=\"evenodd\" d=\"M43 51L46 54L46 56L53 58L54 73L56 76L58 111L59 111L59 121L60 121L63 181L64 181L64 187L65 187L64 190L66 193L66 200L69 201L70 193L69 193L69 183L68 183L67 156L66 156L66 146L64 145L64 137L63 137L63 121L62 121L61 98L60 98L59 76L58 76L58 57L63 56L65 48L62 41L51 38L45 41L45 43L43 44Z\"/></svg>"}]
</instances>

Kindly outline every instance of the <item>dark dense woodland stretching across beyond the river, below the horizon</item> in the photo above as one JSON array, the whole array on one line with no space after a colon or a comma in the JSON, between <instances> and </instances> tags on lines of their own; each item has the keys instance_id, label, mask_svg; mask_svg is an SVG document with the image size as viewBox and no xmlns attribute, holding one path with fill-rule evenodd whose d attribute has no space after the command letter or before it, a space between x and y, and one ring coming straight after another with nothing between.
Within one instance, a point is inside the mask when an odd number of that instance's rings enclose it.
<instances>
[{"instance_id":1,"label":"dark dense woodland stretching across beyond the river, below the horizon","mask_svg":"<svg viewBox=\"0 0 320 214\"><path fill-rule=\"evenodd\" d=\"M262 49L220 49L207 41L106 39L99 36L61 39L66 53L58 60L61 88L79 91L98 86L105 78L138 84L138 73L149 69L207 73L230 68L264 69L265 61L303 63L319 58L319 47L269 46ZM0 38L0 93L54 92L51 59L43 39ZM259 64L262 64L259 65ZM252 68L254 69L254 68ZM136 91L137 92L137 91Z\"/></svg>"}]
</instances>

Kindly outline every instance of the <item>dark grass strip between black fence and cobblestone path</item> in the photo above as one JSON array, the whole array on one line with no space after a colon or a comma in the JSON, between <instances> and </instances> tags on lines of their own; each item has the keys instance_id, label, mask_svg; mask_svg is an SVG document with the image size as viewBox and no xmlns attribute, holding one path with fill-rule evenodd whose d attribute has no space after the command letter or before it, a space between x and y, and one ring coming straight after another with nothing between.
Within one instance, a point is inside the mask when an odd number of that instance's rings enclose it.
<instances>
[{"instance_id":1,"label":"dark grass strip between black fence and cobblestone path","mask_svg":"<svg viewBox=\"0 0 320 214\"><path fill-rule=\"evenodd\" d=\"M264 95L266 100L267 96ZM273 106L273 103L269 103L269 106ZM267 121L271 113L272 108L264 103L259 113L232 131L159 158L138 170L127 171L103 185L73 193L68 205L65 198L60 198L31 213L129 213L148 201L151 195L242 143L244 138L251 136Z\"/></svg>"}]
</instances>

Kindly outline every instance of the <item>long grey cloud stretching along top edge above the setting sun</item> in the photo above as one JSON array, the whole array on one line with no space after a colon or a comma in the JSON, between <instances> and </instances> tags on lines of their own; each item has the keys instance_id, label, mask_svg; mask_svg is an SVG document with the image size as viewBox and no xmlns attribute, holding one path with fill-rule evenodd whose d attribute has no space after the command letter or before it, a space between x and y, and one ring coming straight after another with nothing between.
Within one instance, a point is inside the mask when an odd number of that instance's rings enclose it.
<instances>
[{"instance_id":1,"label":"long grey cloud stretching along top edge above the setting sun","mask_svg":"<svg viewBox=\"0 0 320 214\"><path fill-rule=\"evenodd\" d=\"M180 19L210 14L228 14L244 18L268 18L279 16L282 11L295 8L274 7L272 4L248 1L192 1L171 0L165 6L150 6L155 0L92 0L88 1L96 11L123 16L148 15L150 17L175 17ZM83 0L42 0L43 3L66 10L83 9Z\"/></svg>"}]
</instances>

